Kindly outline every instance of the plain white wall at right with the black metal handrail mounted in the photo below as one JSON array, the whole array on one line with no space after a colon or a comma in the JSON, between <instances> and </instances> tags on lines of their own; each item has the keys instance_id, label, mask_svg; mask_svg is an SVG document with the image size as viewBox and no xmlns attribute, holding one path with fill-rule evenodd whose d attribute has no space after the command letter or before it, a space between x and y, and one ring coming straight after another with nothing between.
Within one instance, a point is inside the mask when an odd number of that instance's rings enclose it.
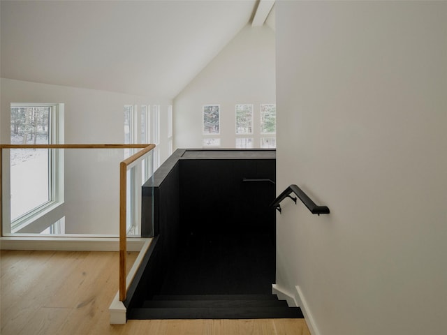
<instances>
[{"instance_id":1,"label":"plain white wall at right with the black metal handrail mounted","mask_svg":"<svg viewBox=\"0 0 447 335\"><path fill-rule=\"evenodd\" d=\"M277 1L277 284L314 334L447 334L447 3Z\"/></svg>"}]
</instances>

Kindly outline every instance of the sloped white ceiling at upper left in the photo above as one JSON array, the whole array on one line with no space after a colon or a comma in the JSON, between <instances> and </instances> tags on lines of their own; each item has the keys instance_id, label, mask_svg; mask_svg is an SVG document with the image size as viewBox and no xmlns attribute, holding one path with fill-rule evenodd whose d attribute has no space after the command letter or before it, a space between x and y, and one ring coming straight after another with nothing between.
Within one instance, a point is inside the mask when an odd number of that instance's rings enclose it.
<instances>
[{"instance_id":1,"label":"sloped white ceiling at upper left","mask_svg":"<svg viewBox=\"0 0 447 335\"><path fill-rule=\"evenodd\" d=\"M1 76L174 98L256 0L1 1Z\"/></svg>"}]
</instances>

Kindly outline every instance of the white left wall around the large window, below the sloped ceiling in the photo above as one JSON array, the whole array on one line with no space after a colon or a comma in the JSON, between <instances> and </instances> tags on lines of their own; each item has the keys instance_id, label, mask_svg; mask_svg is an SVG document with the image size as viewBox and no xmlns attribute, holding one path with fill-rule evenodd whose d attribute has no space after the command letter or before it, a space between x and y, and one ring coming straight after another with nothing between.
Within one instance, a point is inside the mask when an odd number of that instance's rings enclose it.
<instances>
[{"instance_id":1,"label":"white left wall around the large window, below the sloped ceiling","mask_svg":"<svg viewBox=\"0 0 447 335\"><path fill-rule=\"evenodd\" d=\"M65 143L124 143L124 105L161 105L161 162L168 157L167 109L170 101L108 91L1 79L1 142L10 137L10 103L64 103ZM140 128L138 128L139 131ZM122 150L65 153L66 233L117 234L119 161ZM109 164L112 163L112 165ZM6 162L7 163L7 162ZM6 168L3 164L3 168ZM94 164L96 168L91 168ZM112 166L112 168L110 168ZM8 175L8 174L6 174ZM6 198L4 199L6 201ZM84 204L96 202L101 211ZM7 206L8 204L5 203ZM80 207L78 207L78 205Z\"/></svg>"}]
</instances>

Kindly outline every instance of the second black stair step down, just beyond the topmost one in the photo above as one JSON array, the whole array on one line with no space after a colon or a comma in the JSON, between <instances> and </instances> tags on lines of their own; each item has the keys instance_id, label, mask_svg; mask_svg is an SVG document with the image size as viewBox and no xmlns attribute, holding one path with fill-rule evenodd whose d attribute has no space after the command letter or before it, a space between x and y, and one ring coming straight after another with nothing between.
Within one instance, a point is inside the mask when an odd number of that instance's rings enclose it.
<instances>
[{"instance_id":1,"label":"second black stair step down, just beyond the topmost one","mask_svg":"<svg viewBox=\"0 0 447 335\"><path fill-rule=\"evenodd\" d=\"M143 308L288 307L285 300L147 300Z\"/></svg>"}]
</instances>

